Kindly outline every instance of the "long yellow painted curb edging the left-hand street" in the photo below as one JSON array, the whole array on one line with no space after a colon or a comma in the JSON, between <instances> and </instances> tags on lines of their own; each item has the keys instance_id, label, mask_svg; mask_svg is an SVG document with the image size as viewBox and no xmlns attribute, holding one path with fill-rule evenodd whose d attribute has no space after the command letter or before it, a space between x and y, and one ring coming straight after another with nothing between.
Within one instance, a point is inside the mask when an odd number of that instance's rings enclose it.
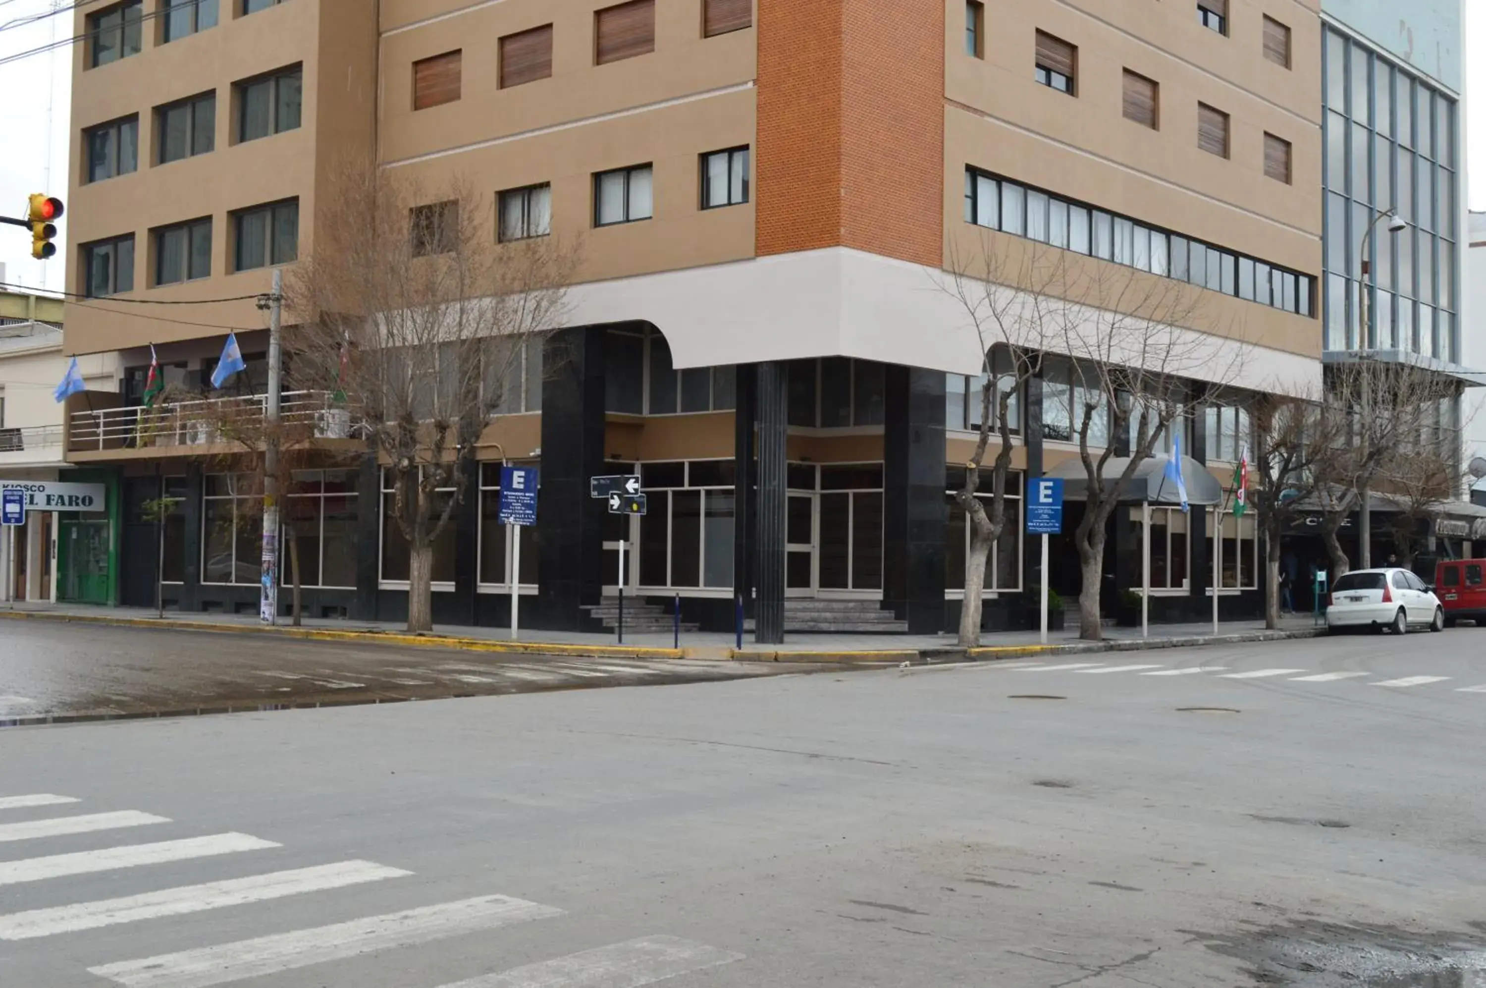
<instances>
[{"instance_id":1,"label":"long yellow painted curb edging the left-hand street","mask_svg":"<svg viewBox=\"0 0 1486 988\"><path fill-rule=\"evenodd\" d=\"M508 652L514 655L572 655L591 658L688 658L688 649L630 648L627 645L574 645L571 642L496 642L490 639L452 637L446 634L407 634L398 631L337 631L334 628L265 627L262 624L227 624L215 621L178 621L171 618L125 618L92 614L52 614L46 611L0 611L0 618L104 624L113 627L168 628L180 631L211 631L229 634L282 634L315 642L361 642L372 645L412 645L416 648L447 648L464 652Z\"/></svg>"}]
</instances>

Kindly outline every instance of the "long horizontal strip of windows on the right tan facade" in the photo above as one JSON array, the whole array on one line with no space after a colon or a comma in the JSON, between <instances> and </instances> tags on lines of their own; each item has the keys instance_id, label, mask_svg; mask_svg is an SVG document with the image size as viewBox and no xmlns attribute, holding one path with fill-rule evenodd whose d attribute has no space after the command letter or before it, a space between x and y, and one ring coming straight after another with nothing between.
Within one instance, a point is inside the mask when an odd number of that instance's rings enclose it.
<instances>
[{"instance_id":1,"label":"long horizontal strip of windows on the right tan facade","mask_svg":"<svg viewBox=\"0 0 1486 988\"><path fill-rule=\"evenodd\" d=\"M1314 315L1315 279L1137 220L988 175L964 174L964 221L1175 278L1248 302ZM1244 275L1247 272L1247 281ZM1248 285L1248 288L1245 288Z\"/></svg>"}]
</instances>

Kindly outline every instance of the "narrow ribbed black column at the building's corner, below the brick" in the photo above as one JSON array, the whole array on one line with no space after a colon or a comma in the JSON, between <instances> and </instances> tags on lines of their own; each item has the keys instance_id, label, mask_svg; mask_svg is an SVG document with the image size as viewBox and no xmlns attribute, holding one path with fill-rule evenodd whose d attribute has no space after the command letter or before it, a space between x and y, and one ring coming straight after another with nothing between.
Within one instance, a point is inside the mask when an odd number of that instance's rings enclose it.
<instances>
[{"instance_id":1,"label":"narrow ribbed black column at the building's corner, below the brick","mask_svg":"<svg viewBox=\"0 0 1486 988\"><path fill-rule=\"evenodd\" d=\"M785 475L789 400L785 365L758 364L758 588L753 600L753 640L785 640Z\"/></svg>"}]
</instances>

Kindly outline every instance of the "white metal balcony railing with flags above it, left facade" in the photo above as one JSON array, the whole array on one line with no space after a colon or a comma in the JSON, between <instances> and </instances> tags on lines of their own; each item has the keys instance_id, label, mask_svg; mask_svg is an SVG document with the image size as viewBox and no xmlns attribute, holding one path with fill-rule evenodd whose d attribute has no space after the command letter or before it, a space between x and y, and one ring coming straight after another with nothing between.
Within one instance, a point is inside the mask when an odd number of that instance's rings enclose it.
<instances>
[{"instance_id":1,"label":"white metal balcony railing with flags above it, left facade","mask_svg":"<svg viewBox=\"0 0 1486 988\"><path fill-rule=\"evenodd\" d=\"M260 422L267 395L175 401L155 409L100 409L74 412L68 452L143 449L150 446L205 446L223 438L233 422ZM285 391L279 401L285 423L314 425L317 438L349 438L351 410L336 404L328 391Z\"/></svg>"}]
</instances>

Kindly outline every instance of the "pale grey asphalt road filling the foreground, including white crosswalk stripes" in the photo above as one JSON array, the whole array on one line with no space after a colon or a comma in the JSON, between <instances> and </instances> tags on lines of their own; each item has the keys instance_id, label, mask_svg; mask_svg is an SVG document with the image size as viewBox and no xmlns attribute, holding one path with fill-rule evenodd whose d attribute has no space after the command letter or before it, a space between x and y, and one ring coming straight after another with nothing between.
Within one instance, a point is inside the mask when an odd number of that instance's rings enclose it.
<instances>
[{"instance_id":1,"label":"pale grey asphalt road filling the foreground, including white crosswalk stripes","mask_svg":"<svg viewBox=\"0 0 1486 988\"><path fill-rule=\"evenodd\" d=\"M0 981L1474 985L1483 643L6 729Z\"/></svg>"}]
</instances>

